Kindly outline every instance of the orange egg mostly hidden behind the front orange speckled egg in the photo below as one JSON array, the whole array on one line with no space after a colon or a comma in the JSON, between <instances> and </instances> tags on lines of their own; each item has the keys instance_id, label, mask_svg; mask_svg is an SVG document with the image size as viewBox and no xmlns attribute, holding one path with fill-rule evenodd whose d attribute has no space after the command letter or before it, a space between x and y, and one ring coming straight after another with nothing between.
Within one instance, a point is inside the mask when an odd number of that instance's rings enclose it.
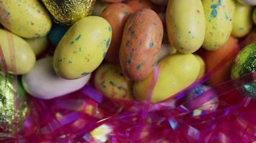
<instances>
[{"instance_id":1,"label":"orange egg mostly hidden behind the front orange speckled egg","mask_svg":"<svg viewBox=\"0 0 256 143\"><path fill-rule=\"evenodd\" d=\"M127 4L111 4L101 14L106 21L109 22L112 28L112 39L109 50L106 53L106 61L119 62L119 46L122 41L122 33L132 9Z\"/></svg>"}]
</instances>

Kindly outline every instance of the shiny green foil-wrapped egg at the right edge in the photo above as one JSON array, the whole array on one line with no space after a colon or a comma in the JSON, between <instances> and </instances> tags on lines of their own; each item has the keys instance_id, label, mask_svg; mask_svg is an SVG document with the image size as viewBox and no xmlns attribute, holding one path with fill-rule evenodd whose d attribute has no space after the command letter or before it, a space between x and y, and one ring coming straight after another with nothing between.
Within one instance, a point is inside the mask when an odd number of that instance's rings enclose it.
<instances>
[{"instance_id":1,"label":"shiny green foil-wrapped egg at the right edge","mask_svg":"<svg viewBox=\"0 0 256 143\"><path fill-rule=\"evenodd\" d=\"M256 43L245 46L239 52L232 67L232 79L237 79L244 74L256 71ZM244 84L242 91L249 97L256 97L256 81Z\"/></svg>"}]
</instances>

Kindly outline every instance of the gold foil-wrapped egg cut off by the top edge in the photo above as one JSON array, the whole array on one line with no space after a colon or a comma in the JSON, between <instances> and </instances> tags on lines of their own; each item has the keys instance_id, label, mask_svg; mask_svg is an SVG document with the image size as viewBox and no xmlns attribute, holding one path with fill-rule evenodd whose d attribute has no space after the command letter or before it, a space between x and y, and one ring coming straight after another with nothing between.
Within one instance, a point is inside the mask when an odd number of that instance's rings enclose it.
<instances>
[{"instance_id":1,"label":"gold foil-wrapped egg cut off by the top edge","mask_svg":"<svg viewBox=\"0 0 256 143\"><path fill-rule=\"evenodd\" d=\"M93 10L96 0L42 0L56 22L74 24L79 19L88 16Z\"/></svg>"}]
</instances>

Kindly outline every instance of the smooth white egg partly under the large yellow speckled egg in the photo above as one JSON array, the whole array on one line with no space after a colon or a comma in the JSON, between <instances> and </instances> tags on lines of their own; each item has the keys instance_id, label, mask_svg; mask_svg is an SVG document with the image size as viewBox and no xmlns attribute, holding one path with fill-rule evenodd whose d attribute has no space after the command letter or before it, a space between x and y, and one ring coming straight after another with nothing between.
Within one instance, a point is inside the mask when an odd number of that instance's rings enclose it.
<instances>
[{"instance_id":1,"label":"smooth white egg partly under the large yellow speckled egg","mask_svg":"<svg viewBox=\"0 0 256 143\"><path fill-rule=\"evenodd\" d=\"M37 61L35 68L22 76L22 84L33 97L52 99L81 89L90 77L91 74L74 80L58 77L52 67L52 57L47 57Z\"/></svg>"}]
</instances>

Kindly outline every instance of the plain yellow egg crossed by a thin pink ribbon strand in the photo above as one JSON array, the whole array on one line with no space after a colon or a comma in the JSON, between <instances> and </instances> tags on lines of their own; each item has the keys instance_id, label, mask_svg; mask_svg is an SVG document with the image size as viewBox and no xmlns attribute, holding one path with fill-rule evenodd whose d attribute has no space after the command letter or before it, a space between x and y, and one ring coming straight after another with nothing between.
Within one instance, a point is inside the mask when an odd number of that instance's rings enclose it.
<instances>
[{"instance_id":1,"label":"plain yellow egg crossed by a thin pink ribbon strand","mask_svg":"<svg viewBox=\"0 0 256 143\"><path fill-rule=\"evenodd\" d=\"M152 92L152 102L177 94L198 78L201 65L193 54L173 54L165 57L159 64L159 75ZM134 96L139 100L146 99L152 80L152 73L146 79L134 83Z\"/></svg>"}]
</instances>

